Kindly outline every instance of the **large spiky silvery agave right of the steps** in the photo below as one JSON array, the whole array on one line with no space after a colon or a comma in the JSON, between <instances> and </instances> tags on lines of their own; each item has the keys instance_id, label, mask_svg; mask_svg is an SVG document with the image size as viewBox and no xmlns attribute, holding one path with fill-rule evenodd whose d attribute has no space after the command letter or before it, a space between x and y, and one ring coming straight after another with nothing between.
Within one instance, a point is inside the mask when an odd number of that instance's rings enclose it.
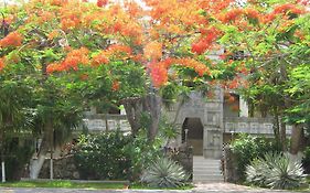
<instances>
[{"instance_id":1,"label":"large spiky silvery agave right of the steps","mask_svg":"<svg viewBox=\"0 0 310 193\"><path fill-rule=\"evenodd\" d=\"M249 183L271 189L295 189L304 182L301 162L293 161L288 154L266 153L246 167Z\"/></svg>"}]
</instances>

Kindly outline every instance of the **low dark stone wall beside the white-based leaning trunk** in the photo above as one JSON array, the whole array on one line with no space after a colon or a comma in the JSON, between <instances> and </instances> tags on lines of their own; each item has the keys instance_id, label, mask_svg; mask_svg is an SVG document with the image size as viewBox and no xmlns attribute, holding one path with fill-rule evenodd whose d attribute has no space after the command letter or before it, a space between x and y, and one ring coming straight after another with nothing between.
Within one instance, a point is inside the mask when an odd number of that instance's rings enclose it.
<instances>
[{"instance_id":1,"label":"low dark stone wall beside the white-based leaning trunk","mask_svg":"<svg viewBox=\"0 0 310 193\"><path fill-rule=\"evenodd\" d=\"M73 156L62 157L53 160L54 179L78 180L79 173L74 163ZM50 160L46 159L39 175L40 179L50 179Z\"/></svg>"}]
</instances>

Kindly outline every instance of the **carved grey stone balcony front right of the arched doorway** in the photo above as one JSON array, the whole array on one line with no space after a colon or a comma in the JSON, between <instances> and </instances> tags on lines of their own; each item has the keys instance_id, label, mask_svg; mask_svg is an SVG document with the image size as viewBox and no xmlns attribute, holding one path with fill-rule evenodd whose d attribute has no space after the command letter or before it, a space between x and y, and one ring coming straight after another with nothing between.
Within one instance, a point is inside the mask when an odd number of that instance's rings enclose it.
<instances>
[{"instance_id":1,"label":"carved grey stone balcony front right of the arched doorway","mask_svg":"<svg viewBox=\"0 0 310 193\"><path fill-rule=\"evenodd\" d=\"M227 133L274 135L272 118L225 117L224 131ZM287 135L291 126L287 126Z\"/></svg>"}]
</instances>

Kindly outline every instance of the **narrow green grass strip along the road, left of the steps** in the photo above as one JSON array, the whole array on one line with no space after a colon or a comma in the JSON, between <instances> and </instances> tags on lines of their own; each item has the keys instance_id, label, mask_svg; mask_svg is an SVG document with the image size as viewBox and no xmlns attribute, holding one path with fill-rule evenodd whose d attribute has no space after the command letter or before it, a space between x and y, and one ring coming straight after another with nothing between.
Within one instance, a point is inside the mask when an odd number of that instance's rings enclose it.
<instances>
[{"instance_id":1,"label":"narrow green grass strip along the road, left of the steps","mask_svg":"<svg viewBox=\"0 0 310 193\"><path fill-rule=\"evenodd\" d=\"M19 181L0 183L3 187L62 187L62 189L86 189L86 190L117 190L127 189L125 182L74 182L67 180L53 181ZM185 185L173 190L190 190L192 185ZM129 189L152 189L143 184L130 184Z\"/></svg>"}]
</instances>

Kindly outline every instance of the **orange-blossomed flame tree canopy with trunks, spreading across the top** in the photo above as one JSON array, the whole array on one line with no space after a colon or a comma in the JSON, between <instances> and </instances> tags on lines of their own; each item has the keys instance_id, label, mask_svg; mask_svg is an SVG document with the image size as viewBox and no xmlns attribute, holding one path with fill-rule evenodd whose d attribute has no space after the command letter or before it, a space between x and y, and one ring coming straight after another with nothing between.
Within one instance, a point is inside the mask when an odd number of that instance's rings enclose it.
<instances>
[{"instance_id":1,"label":"orange-blossomed flame tree canopy with trunks, spreading across the top","mask_svg":"<svg viewBox=\"0 0 310 193\"><path fill-rule=\"evenodd\" d=\"M124 104L133 135L142 116L148 117L151 141L158 132L160 95L173 100L180 90L200 89L211 97L210 86L221 84L245 88L249 99L263 101L266 92L255 93L252 85L263 90L270 85L265 78L270 68L282 69L277 61L287 61L291 45L299 45L288 35L302 45L309 41L300 24L307 22L307 1L143 2L32 0L2 11L1 77L14 68L13 76L32 81L26 84L33 86L29 104L43 133L38 168L55 132L70 131L84 107ZM221 60L207 57L221 47L226 50ZM293 106L281 109L270 103L278 111Z\"/></svg>"}]
</instances>

